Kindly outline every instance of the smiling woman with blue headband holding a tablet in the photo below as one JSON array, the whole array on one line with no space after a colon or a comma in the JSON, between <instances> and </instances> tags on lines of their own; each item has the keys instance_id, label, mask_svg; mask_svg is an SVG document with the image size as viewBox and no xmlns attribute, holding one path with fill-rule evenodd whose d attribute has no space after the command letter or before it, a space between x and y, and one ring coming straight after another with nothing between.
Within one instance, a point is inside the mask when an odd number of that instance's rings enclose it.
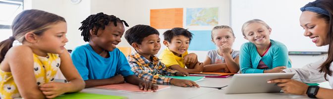
<instances>
[{"instance_id":1,"label":"smiling woman with blue headband holding a tablet","mask_svg":"<svg viewBox=\"0 0 333 99\"><path fill-rule=\"evenodd\" d=\"M308 86L304 83L329 81L333 88L333 66L331 65L333 61L333 0L309 2L301 8L301 11L299 21L301 27L304 28L304 36L309 37L317 47L329 45L328 55L303 68L288 68L282 71L296 73L293 79L276 79L268 81L268 83L278 83L277 86L287 94L332 99L332 89Z\"/></svg>"}]
</instances>

